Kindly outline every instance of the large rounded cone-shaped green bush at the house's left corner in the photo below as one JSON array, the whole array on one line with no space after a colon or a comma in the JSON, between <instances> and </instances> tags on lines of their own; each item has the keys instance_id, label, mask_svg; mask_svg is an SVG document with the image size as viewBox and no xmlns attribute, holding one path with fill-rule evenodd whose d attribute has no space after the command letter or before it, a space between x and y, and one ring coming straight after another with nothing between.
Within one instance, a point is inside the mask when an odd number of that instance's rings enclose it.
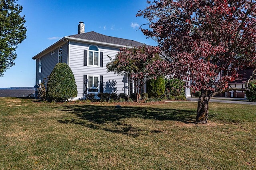
<instances>
[{"instance_id":1,"label":"large rounded cone-shaped green bush at the house's left corner","mask_svg":"<svg viewBox=\"0 0 256 170\"><path fill-rule=\"evenodd\" d=\"M63 102L76 96L76 81L72 70L66 63L56 64L47 82L47 100Z\"/></svg>"}]
</instances>

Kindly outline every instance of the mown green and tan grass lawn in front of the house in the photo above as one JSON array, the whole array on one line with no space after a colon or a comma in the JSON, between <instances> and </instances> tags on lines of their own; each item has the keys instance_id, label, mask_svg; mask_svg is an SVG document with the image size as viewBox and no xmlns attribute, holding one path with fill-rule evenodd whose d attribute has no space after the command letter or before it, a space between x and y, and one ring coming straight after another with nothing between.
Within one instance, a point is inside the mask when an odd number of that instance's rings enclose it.
<instances>
[{"instance_id":1,"label":"mown green and tan grass lawn in front of the house","mask_svg":"<svg viewBox=\"0 0 256 170\"><path fill-rule=\"evenodd\" d=\"M0 169L255 169L256 106L0 98Z\"/></svg>"}]
</instances>

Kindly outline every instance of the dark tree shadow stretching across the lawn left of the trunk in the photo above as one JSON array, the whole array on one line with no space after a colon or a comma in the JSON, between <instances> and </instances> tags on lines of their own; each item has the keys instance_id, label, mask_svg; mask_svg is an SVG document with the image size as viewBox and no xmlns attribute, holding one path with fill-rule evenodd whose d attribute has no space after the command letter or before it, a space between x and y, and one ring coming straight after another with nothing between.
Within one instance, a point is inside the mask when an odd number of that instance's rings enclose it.
<instances>
[{"instance_id":1,"label":"dark tree shadow stretching across the lawn left of the trunk","mask_svg":"<svg viewBox=\"0 0 256 170\"><path fill-rule=\"evenodd\" d=\"M109 132L122 133L129 136L139 136L142 127L135 127L132 124L125 123L125 119L140 118L151 120L170 120L183 123L194 123L196 112L189 110L159 109L152 107L122 107L115 109L114 106L96 106L96 105L67 105L61 111L66 111L76 115L77 119L58 120L60 123L74 123L88 128L101 129ZM150 132L160 133L160 130Z\"/></svg>"}]
</instances>

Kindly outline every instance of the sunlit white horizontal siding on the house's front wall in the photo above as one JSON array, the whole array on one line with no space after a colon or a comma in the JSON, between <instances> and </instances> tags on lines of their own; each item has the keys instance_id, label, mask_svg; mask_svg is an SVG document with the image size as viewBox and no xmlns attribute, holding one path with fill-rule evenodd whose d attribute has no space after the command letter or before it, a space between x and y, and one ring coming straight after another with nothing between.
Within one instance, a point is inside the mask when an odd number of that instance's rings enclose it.
<instances>
[{"instance_id":1,"label":"sunlit white horizontal siding on the house's front wall","mask_svg":"<svg viewBox=\"0 0 256 170\"><path fill-rule=\"evenodd\" d=\"M107 55L112 57L116 56L116 53L119 51L118 48L112 47L105 47L100 46L99 52L103 52L103 67L90 67L84 66L84 50L88 50L89 45L97 45L97 44L85 44L85 43L78 43L78 42L70 42L69 46L69 66L74 73L74 77L76 79L77 91L78 91L78 98L82 97L83 93L83 75L93 75L93 76L100 76L103 75L103 92L111 92L112 89L108 89L108 81L116 81L116 93L124 93L124 76L117 76L114 73L107 73L106 64L110 62L110 59Z\"/></svg>"}]
</instances>

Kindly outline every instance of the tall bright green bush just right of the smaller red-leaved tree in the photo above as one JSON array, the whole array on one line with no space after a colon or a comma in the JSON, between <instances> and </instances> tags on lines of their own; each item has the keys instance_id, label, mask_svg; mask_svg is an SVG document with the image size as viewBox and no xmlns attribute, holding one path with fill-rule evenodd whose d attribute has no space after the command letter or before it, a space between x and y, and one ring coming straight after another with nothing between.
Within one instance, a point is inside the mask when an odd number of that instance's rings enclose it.
<instances>
[{"instance_id":1,"label":"tall bright green bush just right of the smaller red-leaved tree","mask_svg":"<svg viewBox=\"0 0 256 170\"><path fill-rule=\"evenodd\" d=\"M164 94L164 78L158 77L147 82L147 92L149 97L159 98Z\"/></svg>"}]
</instances>

